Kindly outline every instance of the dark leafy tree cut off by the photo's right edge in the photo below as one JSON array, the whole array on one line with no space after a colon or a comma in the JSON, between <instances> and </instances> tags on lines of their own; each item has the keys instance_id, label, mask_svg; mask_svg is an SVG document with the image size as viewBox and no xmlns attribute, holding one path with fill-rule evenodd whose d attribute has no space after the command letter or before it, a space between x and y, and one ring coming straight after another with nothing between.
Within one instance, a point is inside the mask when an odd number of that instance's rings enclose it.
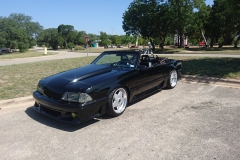
<instances>
[{"instance_id":1,"label":"dark leafy tree cut off by the photo's right edge","mask_svg":"<svg viewBox=\"0 0 240 160\"><path fill-rule=\"evenodd\" d=\"M235 37L240 33L240 2L237 0L214 0L210 19L209 31L211 43L213 39L223 45L231 45ZM222 39L220 41L220 39ZM235 46L236 47L236 46Z\"/></svg>"}]
</instances>

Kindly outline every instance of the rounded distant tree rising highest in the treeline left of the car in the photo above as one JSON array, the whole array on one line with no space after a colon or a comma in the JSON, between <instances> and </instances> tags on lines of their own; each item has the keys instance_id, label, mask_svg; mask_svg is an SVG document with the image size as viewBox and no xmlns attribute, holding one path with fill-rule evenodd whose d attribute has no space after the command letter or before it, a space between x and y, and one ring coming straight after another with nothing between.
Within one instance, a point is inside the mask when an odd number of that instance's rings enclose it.
<instances>
[{"instance_id":1,"label":"rounded distant tree rising highest in the treeline left of the car","mask_svg":"<svg viewBox=\"0 0 240 160\"><path fill-rule=\"evenodd\" d=\"M58 34L64 39L64 48L67 48L68 38L71 36L73 31L74 27L72 25L61 24L58 26Z\"/></svg>"}]
</instances>

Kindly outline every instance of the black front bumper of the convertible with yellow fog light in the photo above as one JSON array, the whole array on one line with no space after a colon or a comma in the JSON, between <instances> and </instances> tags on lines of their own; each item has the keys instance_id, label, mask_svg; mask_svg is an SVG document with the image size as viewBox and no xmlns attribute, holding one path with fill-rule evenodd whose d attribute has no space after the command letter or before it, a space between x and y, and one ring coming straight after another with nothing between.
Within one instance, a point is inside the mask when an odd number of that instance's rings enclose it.
<instances>
[{"instance_id":1,"label":"black front bumper of the convertible with yellow fog light","mask_svg":"<svg viewBox=\"0 0 240 160\"><path fill-rule=\"evenodd\" d=\"M106 112L107 98L88 104L80 104L51 99L37 91L33 92L33 97L35 99L33 108L37 112L61 122L79 124Z\"/></svg>"}]
</instances>

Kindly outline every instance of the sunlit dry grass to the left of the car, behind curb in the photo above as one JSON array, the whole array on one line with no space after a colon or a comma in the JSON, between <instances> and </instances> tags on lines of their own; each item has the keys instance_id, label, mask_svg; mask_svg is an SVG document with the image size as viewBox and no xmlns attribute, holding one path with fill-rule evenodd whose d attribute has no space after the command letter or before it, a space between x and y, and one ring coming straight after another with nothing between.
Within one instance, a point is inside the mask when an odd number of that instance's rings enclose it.
<instances>
[{"instance_id":1,"label":"sunlit dry grass to the left of the car, behind curb","mask_svg":"<svg viewBox=\"0 0 240 160\"><path fill-rule=\"evenodd\" d=\"M83 57L0 67L0 100L29 96L36 90L40 79L89 64L95 58Z\"/></svg>"}]
</instances>

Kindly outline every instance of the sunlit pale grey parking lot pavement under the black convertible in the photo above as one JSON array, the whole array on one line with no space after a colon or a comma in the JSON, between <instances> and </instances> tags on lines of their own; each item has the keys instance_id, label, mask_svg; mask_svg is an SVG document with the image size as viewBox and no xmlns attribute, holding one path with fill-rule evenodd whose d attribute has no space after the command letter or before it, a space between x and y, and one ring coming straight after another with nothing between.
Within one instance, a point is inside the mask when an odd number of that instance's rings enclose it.
<instances>
[{"instance_id":1,"label":"sunlit pale grey parking lot pavement under the black convertible","mask_svg":"<svg viewBox=\"0 0 240 160\"><path fill-rule=\"evenodd\" d=\"M117 118L57 122L19 104L0 110L0 159L240 159L240 89L179 82Z\"/></svg>"}]
</instances>

